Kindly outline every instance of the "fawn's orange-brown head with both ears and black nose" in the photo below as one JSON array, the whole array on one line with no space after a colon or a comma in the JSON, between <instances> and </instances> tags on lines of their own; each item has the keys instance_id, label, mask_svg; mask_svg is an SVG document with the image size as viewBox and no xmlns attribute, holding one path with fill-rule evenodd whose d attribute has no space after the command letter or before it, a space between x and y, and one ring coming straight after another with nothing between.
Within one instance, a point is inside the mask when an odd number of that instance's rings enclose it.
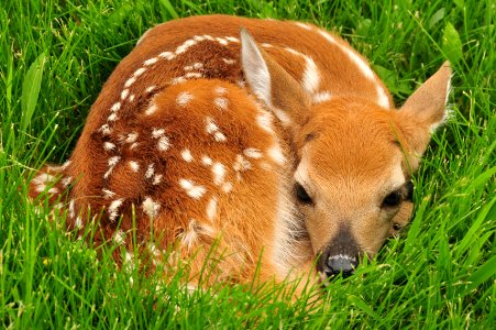
<instances>
[{"instance_id":1,"label":"fawn's orange-brown head with both ears and black nose","mask_svg":"<svg viewBox=\"0 0 496 330\"><path fill-rule=\"evenodd\" d=\"M312 105L301 86L241 31L241 59L252 92L279 119L294 160L293 202L321 277L353 273L412 211L411 175L445 117L449 63L399 110L331 95ZM290 157L290 158L291 158Z\"/></svg>"}]
</instances>

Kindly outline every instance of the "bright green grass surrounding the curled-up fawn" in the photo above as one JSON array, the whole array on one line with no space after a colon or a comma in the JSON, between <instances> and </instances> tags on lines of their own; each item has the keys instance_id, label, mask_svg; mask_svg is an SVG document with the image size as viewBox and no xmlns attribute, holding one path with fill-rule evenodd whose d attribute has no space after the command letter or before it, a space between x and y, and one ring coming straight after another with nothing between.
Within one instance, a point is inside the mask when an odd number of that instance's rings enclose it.
<instances>
[{"instance_id":1,"label":"bright green grass surrounding the curled-up fawn","mask_svg":"<svg viewBox=\"0 0 496 330\"><path fill-rule=\"evenodd\" d=\"M152 3L153 2L153 3ZM54 1L0 8L0 328L496 328L496 2ZM355 2L355 3L352 3ZM187 295L180 274L120 272L26 204L25 178L68 158L112 69L156 23L203 13L337 32L400 105L449 58L452 118L415 177L416 213L323 304L244 287ZM277 288L279 289L279 288Z\"/></svg>"}]
</instances>

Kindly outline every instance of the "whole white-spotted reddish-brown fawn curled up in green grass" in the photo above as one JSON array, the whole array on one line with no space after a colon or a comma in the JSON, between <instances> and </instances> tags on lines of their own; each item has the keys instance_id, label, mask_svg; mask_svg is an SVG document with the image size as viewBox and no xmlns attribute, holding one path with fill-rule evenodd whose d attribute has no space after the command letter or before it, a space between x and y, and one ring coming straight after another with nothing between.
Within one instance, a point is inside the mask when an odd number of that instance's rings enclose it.
<instances>
[{"instance_id":1,"label":"whole white-spotted reddish-brown fawn curled up in green grass","mask_svg":"<svg viewBox=\"0 0 496 330\"><path fill-rule=\"evenodd\" d=\"M262 279L346 276L408 222L450 76L447 63L395 110L366 59L313 25L170 21L119 64L70 161L44 167L31 197L48 194L69 229L98 216L96 240L128 260L133 229L152 255L195 256L192 282L216 240L216 280L247 282L258 261Z\"/></svg>"}]
</instances>

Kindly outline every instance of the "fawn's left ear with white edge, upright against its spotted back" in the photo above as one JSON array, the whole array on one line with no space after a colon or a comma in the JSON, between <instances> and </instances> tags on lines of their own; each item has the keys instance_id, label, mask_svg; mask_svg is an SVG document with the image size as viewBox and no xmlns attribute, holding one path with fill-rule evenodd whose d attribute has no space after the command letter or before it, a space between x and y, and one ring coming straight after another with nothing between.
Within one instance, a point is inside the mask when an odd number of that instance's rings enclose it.
<instances>
[{"instance_id":1,"label":"fawn's left ear with white edge, upright against its spotted back","mask_svg":"<svg viewBox=\"0 0 496 330\"><path fill-rule=\"evenodd\" d=\"M284 125L302 122L310 105L301 86L241 29L241 65L252 92Z\"/></svg>"}]
</instances>

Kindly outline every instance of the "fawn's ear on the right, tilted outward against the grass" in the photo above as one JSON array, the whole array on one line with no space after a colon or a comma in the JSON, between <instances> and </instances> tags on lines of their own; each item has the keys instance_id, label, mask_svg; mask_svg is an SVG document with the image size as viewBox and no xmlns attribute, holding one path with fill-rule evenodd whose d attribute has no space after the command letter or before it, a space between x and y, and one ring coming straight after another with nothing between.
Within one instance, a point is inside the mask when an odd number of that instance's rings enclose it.
<instances>
[{"instance_id":1,"label":"fawn's ear on the right, tilted outward against the grass","mask_svg":"<svg viewBox=\"0 0 496 330\"><path fill-rule=\"evenodd\" d=\"M399 110L400 127L417 155L421 155L436 129L448 118L447 102L451 87L451 66L441 68L423 82Z\"/></svg>"}]
</instances>

